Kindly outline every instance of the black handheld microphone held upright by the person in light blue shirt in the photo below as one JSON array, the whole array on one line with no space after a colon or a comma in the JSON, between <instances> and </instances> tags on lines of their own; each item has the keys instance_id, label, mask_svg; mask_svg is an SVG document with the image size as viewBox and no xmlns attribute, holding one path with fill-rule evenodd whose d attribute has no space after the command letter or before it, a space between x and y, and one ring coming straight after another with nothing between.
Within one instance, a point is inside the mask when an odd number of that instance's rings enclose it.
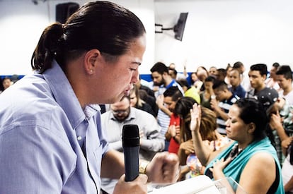
<instances>
[{"instance_id":1,"label":"black handheld microphone held upright by the person in light blue shirt","mask_svg":"<svg viewBox=\"0 0 293 194\"><path fill-rule=\"evenodd\" d=\"M133 181L139 176L139 128L137 125L123 126L122 146L125 163L125 181Z\"/></svg>"}]
</instances>

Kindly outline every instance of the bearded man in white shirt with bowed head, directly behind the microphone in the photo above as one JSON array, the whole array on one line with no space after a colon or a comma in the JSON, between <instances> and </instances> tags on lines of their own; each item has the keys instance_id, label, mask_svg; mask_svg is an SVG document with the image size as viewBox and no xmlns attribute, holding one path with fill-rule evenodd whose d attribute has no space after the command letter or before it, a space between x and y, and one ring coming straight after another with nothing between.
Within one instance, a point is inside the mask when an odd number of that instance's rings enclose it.
<instances>
[{"instance_id":1,"label":"bearded man in white shirt with bowed head, directly behind the microphone","mask_svg":"<svg viewBox=\"0 0 293 194\"><path fill-rule=\"evenodd\" d=\"M106 129L106 140L110 148L123 152L122 128L125 124L136 124L139 127L139 159L150 161L156 152L164 149L164 138L161 128L154 116L130 107L130 97L124 96L120 102L110 105L110 111L101 115L102 127ZM101 188L113 193L117 179L102 178Z\"/></svg>"}]
</instances>

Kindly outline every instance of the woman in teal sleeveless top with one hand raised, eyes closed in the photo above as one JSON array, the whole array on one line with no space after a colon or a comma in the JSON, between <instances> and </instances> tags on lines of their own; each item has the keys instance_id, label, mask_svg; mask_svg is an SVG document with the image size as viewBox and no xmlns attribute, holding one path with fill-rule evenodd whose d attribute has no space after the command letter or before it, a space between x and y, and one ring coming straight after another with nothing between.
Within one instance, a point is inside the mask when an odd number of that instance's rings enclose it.
<instances>
[{"instance_id":1,"label":"woman in teal sleeveless top with one hand raised, eyes closed","mask_svg":"<svg viewBox=\"0 0 293 194\"><path fill-rule=\"evenodd\" d=\"M226 133L232 141L216 152L202 143L200 110L197 104L190 110L190 130L197 157L207 166L205 175L224 180L230 192L242 190L232 188L225 177L234 178L246 193L285 193L277 153L265 135L268 118L262 104L255 99L239 99L232 105L226 121Z\"/></svg>"}]
</instances>

